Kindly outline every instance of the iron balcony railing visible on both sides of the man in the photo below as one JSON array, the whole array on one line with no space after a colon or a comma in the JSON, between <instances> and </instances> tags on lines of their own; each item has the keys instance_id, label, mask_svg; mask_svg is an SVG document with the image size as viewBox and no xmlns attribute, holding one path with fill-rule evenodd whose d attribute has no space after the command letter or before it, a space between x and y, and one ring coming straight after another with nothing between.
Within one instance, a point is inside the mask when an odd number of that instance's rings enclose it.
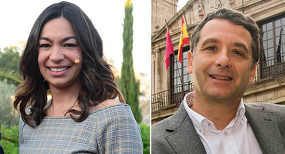
<instances>
[{"instance_id":1,"label":"iron balcony railing visible on both sides of the man","mask_svg":"<svg viewBox=\"0 0 285 154\"><path fill-rule=\"evenodd\" d=\"M285 54L275 59L260 62L257 72L254 85L285 77ZM184 85L153 94L151 96L151 112L155 113L180 105L184 95L193 90L193 83L184 83Z\"/></svg>"}]
</instances>

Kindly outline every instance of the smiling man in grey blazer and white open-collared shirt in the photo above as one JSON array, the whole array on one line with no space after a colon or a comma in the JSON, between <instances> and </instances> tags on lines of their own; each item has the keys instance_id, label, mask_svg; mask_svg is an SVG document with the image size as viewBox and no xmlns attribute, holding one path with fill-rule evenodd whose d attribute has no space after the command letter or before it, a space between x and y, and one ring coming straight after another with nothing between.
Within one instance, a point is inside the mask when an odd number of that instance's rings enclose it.
<instances>
[{"instance_id":1,"label":"smiling man in grey blazer and white open-collared shirt","mask_svg":"<svg viewBox=\"0 0 285 154\"><path fill-rule=\"evenodd\" d=\"M285 153L285 106L242 100L254 81L259 37L253 19L230 9L201 21L188 52L194 92L152 127L152 153Z\"/></svg>"}]
</instances>

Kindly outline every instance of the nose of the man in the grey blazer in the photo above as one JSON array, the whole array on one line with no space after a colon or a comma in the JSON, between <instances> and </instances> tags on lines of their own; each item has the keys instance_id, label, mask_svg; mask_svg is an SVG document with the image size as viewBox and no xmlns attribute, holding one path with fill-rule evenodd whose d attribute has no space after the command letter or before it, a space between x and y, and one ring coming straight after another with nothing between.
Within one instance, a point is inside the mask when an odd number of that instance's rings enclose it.
<instances>
[{"instance_id":1,"label":"nose of the man in the grey blazer","mask_svg":"<svg viewBox=\"0 0 285 154\"><path fill-rule=\"evenodd\" d=\"M232 65L231 59L229 58L229 53L227 49L223 49L217 55L217 59L215 61L215 65L220 68L229 68Z\"/></svg>"}]
</instances>

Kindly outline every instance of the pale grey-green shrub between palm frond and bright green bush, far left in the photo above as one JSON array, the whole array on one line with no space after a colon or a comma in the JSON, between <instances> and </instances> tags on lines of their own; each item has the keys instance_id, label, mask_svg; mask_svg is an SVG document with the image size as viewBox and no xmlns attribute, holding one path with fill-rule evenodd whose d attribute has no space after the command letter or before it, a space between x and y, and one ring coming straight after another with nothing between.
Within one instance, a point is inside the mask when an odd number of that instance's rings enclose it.
<instances>
[{"instance_id":1,"label":"pale grey-green shrub between palm frond and bright green bush, far left","mask_svg":"<svg viewBox=\"0 0 285 154\"><path fill-rule=\"evenodd\" d=\"M0 123L7 127L19 123L19 112L13 108L16 86L8 84L7 79L0 80Z\"/></svg>"}]
</instances>

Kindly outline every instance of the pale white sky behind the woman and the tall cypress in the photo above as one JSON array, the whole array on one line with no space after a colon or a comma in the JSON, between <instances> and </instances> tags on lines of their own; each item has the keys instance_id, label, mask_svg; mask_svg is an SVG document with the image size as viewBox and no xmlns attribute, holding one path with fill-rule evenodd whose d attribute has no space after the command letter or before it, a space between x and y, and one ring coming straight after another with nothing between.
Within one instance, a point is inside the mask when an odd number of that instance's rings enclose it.
<instances>
[{"instance_id":1,"label":"pale white sky behind the woman and the tall cypress","mask_svg":"<svg viewBox=\"0 0 285 154\"><path fill-rule=\"evenodd\" d=\"M90 1L67 0L78 5L91 19L103 41L103 52L113 59L114 66L121 72L123 62L123 23L126 0ZM30 30L40 13L49 5L60 0L9 0L0 2L0 48L17 46L27 41ZM150 75L151 56L151 1L133 2L133 61L136 73ZM20 46L21 49L23 47Z\"/></svg>"}]
</instances>

